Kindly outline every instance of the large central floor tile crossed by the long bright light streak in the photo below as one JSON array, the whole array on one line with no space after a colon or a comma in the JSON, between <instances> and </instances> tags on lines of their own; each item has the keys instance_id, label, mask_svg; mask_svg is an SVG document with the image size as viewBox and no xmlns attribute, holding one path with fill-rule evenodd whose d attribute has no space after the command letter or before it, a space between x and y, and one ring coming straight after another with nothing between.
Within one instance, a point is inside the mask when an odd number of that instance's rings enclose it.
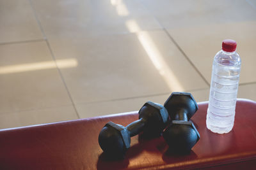
<instances>
[{"instance_id":1,"label":"large central floor tile crossed by the long bright light streak","mask_svg":"<svg viewBox=\"0 0 256 170\"><path fill-rule=\"evenodd\" d=\"M164 31L49 42L56 59L77 60L61 69L75 103L207 87Z\"/></svg>"}]
</instances>

